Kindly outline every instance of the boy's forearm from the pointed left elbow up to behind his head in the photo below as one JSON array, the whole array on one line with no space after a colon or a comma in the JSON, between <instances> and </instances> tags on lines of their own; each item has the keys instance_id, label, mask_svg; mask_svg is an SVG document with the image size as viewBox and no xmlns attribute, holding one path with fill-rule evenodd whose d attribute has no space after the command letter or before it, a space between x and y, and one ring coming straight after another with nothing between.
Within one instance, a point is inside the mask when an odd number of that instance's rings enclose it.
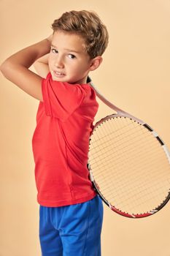
<instances>
[{"instance_id":1,"label":"boy's forearm from the pointed left elbow up to behind his head","mask_svg":"<svg viewBox=\"0 0 170 256\"><path fill-rule=\"evenodd\" d=\"M9 58L7 58L1 64L1 66L4 64L17 64L26 68L31 67L36 59L39 59L40 57L50 52L50 38L51 37L48 37L40 42L35 43L34 45L23 48L12 56L9 56Z\"/></svg>"}]
</instances>

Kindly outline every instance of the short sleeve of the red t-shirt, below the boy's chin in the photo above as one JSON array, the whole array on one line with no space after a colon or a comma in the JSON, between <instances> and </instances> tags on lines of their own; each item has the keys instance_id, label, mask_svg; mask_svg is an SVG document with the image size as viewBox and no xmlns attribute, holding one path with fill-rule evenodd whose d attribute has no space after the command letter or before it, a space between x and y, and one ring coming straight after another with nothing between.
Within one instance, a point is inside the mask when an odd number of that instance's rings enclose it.
<instances>
[{"instance_id":1,"label":"short sleeve of the red t-shirt, below the boy's chin","mask_svg":"<svg viewBox=\"0 0 170 256\"><path fill-rule=\"evenodd\" d=\"M46 115L66 121L80 107L85 91L80 85L53 80L48 73L42 79L42 97Z\"/></svg>"}]
</instances>

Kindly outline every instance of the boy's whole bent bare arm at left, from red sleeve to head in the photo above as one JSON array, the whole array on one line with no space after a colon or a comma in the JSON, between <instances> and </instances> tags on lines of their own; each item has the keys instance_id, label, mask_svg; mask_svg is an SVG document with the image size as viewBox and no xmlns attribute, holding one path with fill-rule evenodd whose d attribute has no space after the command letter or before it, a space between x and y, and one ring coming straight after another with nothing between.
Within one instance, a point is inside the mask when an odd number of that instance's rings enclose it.
<instances>
[{"instance_id":1,"label":"boy's whole bent bare arm at left, from red sleeve to head","mask_svg":"<svg viewBox=\"0 0 170 256\"><path fill-rule=\"evenodd\" d=\"M20 89L26 91L32 97L42 99L42 77L36 75L28 68L32 64L50 52L52 35L40 42L23 48L17 53L9 56L0 66L0 70L5 78L15 83Z\"/></svg>"}]
</instances>

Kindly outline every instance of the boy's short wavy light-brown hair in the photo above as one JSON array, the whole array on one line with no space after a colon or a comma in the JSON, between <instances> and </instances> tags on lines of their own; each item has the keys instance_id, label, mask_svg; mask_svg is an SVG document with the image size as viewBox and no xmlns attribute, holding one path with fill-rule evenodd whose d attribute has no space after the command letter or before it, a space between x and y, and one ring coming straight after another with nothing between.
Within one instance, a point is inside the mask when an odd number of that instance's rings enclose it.
<instances>
[{"instance_id":1,"label":"boy's short wavy light-brown hair","mask_svg":"<svg viewBox=\"0 0 170 256\"><path fill-rule=\"evenodd\" d=\"M59 30L81 35L85 39L85 48L90 59L101 56L109 41L107 27L96 12L86 10L64 12L61 18L54 20L52 29L53 34Z\"/></svg>"}]
</instances>

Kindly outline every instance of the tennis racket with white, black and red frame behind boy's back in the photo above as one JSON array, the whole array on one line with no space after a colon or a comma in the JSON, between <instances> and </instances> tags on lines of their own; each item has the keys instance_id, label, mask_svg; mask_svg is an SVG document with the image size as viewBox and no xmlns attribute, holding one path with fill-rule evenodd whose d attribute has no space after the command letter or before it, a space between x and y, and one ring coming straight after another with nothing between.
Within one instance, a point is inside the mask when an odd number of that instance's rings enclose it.
<instances>
[{"instance_id":1,"label":"tennis racket with white, black and red frame behind boy's back","mask_svg":"<svg viewBox=\"0 0 170 256\"><path fill-rule=\"evenodd\" d=\"M117 108L90 86L116 113L98 121L90 135L88 170L104 203L124 217L155 214L170 198L170 154L144 121Z\"/></svg>"}]
</instances>

